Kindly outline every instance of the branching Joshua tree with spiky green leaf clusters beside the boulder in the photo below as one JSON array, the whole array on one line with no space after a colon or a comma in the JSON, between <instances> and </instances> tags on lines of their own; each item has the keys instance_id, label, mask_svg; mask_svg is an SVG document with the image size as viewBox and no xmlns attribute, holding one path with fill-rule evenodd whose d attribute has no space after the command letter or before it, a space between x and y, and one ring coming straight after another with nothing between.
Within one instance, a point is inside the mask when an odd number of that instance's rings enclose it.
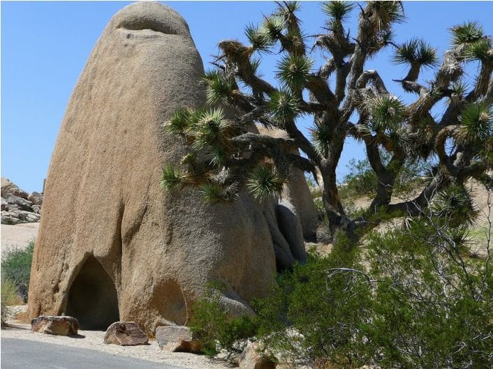
<instances>
[{"instance_id":1,"label":"branching Joshua tree with spiky green leaf clusters beside the boulder","mask_svg":"<svg viewBox=\"0 0 493 369\"><path fill-rule=\"evenodd\" d=\"M492 169L493 48L479 24L452 27L450 50L439 62L425 40L395 43L392 25L404 20L399 1L369 1L365 8L323 3L327 27L313 38L300 29L300 3L277 5L260 26L246 28L251 45L219 43L216 68L204 77L207 106L179 110L167 123L191 150L181 169L164 168L163 188L201 186L207 201L234 200L247 188L261 198L279 193L290 167L297 167L313 174L321 187L331 227L354 231L370 219L378 223L378 214L418 214L440 190L482 179ZM345 21L356 10L358 29L351 36ZM409 65L409 72L395 81L415 95L411 104L390 93L377 70L365 70L365 62L385 47L393 49L395 63ZM320 68L310 59L316 48L326 54ZM256 54L274 50L279 50L279 86L257 73ZM480 68L468 88L464 64L471 61ZM418 82L423 68L435 70L432 81ZM432 114L443 101L445 112ZM302 114L313 116L311 137L297 126ZM357 121L350 121L354 116ZM259 134L255 124L285 130L288 138ZM336 167L346 137L365 144L378 178L371 206L357 219L346 216L337 189ZM390 160L383 160L382 152ZM428 160L432 173L417 197L390 204L406 160Z\"/></svg>"}]
</instances>

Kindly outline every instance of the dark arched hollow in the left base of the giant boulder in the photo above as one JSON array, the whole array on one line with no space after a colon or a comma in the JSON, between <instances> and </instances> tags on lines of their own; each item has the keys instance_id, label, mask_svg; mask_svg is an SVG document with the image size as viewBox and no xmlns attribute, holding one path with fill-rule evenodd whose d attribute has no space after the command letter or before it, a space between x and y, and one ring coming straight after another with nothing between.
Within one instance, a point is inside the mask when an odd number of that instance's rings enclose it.
<instances>
[{"instance_id":1,"label":"dark arched hollow in the left base of the giant boulder","mask_svg":"<svg viewBox=\"0 0 493 369\"><path fill-rule=\"evenodd\" d=\"M107 329L119 321L115 285L94 256L82 265L68 292L66 315L75 317L81 329Z\"/></svg>"}]
</instances>

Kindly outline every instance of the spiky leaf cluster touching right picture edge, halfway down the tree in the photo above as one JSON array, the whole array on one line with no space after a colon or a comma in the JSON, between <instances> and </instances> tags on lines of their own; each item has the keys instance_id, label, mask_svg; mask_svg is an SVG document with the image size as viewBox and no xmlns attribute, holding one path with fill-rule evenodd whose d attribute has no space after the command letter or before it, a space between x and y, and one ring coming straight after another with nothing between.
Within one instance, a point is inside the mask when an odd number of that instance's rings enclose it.
<instances>
[{"instance_id":1,"label":"spiky leaf cluster touching right picture edge, halfway down the tree","mask_svg":"<svg viewBox=\"0 0 493 369\"><path fill-rule=\"evenodd\" d=\"M493 111L485 104L470 104L460 115L455 138L461 144L480 144L493 135Z\"/></svg>"}]
</instances>

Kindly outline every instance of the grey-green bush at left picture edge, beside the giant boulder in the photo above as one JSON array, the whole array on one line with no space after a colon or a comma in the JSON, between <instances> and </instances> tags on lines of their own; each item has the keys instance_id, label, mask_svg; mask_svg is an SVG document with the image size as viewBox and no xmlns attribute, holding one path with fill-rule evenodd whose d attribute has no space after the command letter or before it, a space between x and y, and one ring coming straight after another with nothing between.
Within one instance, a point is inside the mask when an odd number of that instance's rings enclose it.
<instances>
[{"instance_id":1,"label":"grey-green bush at left picture edge, beside the giant boulder","mask_svg":"<svg viewBox=\"0 0 493 369\"><path fill-rule=\"evenodd\" d=\"M29 278L31 278L31 263L33 261L34 241L27 248L8 250L1 261L1 277L15 283L15 292L22 301L27 302Z\"/></svg>"}]
</instances>

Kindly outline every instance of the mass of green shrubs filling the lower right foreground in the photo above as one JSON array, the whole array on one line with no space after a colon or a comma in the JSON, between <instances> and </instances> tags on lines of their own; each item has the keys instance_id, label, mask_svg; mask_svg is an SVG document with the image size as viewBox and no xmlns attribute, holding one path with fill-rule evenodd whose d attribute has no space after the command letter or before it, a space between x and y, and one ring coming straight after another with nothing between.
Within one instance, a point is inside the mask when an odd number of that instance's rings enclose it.
<instances>
[{"instance_id":1,"label":"mass of green shrubs filling the lower right foreground","mask_svg":"<svg viewBox=\"0 0 493 369\"><path fill-rule=\"evenodd\" d=\"M214 302L202 305L196 331L226 348L254 334L267 354L316 368L492 368L490 259L468 257L462 211L431 208L360 248L341 237L329 256L281 273L272 296L252 304L251 331L235 336Z\"/></svg>"}]
</instances>

